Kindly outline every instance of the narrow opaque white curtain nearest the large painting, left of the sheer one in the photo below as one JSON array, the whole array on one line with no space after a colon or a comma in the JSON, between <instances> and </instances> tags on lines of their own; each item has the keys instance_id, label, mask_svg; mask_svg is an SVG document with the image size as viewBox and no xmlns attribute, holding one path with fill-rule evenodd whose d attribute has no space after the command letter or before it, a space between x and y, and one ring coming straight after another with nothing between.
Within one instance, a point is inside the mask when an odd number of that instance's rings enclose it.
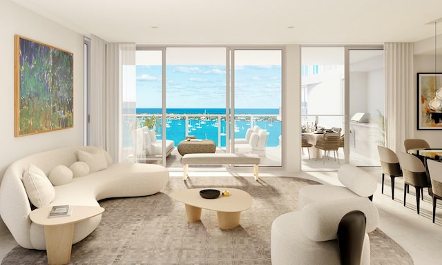
<instances>
[{"instance_id":1,"label":"narrow opaque white curtain nearest the large painting, left of the sheer one","mask_svg":"<svg viewBox=\"0 0 442 265\"><path fill-rule=\"evenodd\" d=\"M106 148L106 41L93 35L90 52L90 146Z\"/></svg>"}]
</instances>

